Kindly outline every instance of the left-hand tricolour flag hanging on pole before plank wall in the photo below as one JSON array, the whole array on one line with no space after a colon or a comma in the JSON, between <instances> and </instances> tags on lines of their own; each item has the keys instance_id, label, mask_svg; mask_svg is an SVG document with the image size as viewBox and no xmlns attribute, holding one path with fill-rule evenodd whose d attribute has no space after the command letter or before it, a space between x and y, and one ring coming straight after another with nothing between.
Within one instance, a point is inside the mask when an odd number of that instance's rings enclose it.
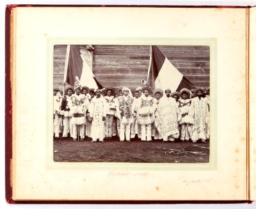
<instances>
[{"instance_id":1,"label":"left-hand tricolour flag hanging on pole before plank wall","mask_svg":"<svg viewBox=\"0 0 256 209\"><path fill-rule=\"evenodd\" d=\"M73 86L75 77L80 79L81 86L103 88L93 75L88 63L84 60L78 45L68 45L63 83Z\"/></svg>"}]
</instances>

